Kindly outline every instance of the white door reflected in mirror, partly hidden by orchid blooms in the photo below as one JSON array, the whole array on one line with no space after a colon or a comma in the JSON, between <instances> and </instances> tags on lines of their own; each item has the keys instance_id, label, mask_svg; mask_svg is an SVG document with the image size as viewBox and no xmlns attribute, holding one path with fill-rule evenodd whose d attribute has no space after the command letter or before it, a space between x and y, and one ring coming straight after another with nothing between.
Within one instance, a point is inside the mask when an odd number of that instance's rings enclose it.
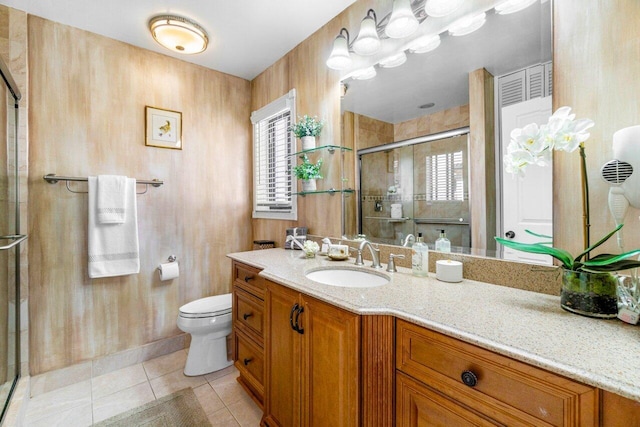
<instances>
[{"instance_id":1,"label":"white door reflected in mirror, partly hidden by orchid blooms","mask_svg":"<svg viewBox=\"0 0 640 427\"><path fill-rule=\"evenodd\" d=\"M546 123L551 116L551 97L534 98L502 109L502 145L511 140L511 131L529 123ZM553 234L553 168L530 165L525 176L502 173L502 237L535 243L543 239L525 232ZM548 239L551 241L551 239ZM553 265L548 255L504 248L504 259Z\"/></svg>"}]
</instances>

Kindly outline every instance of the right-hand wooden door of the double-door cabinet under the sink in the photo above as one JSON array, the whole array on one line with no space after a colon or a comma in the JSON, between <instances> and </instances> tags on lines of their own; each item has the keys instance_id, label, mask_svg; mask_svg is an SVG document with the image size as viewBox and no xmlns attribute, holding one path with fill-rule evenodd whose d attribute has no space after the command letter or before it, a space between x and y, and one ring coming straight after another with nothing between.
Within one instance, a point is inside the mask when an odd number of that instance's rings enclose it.
<instances>
[{"instance_id":1,"label":"right-hand wooden door of the double-door cabinet under the sink","mask_svg":"<svg viewBox=\"0 0 640 427\"><path fill-rule=\"evenodd\" d=\"M357 426L360 316L302 295L303 425Z\"/></svg>"}]
</instances>

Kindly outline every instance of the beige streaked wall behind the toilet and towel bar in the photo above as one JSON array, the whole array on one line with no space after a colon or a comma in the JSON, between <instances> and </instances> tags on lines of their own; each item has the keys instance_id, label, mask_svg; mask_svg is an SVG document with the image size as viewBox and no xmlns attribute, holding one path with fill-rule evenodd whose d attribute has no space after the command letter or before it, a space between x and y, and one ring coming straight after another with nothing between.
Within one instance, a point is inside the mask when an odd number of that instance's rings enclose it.
<instances>
[{"instance_id":1,"label":"beige streaked wall behind the toilet and towel bar","mask_svg":"<svg viewBox=\"0 0 640 427\"><path fill-rule=\"evenodd\" d=\"M180 305L229 292L225 254L251 249L250 83L35 16L29 61L38 374L176 335ZM183 150L144 145L145 105L182 112ZM47 173L164 180L137 196L140 274L88 278L87 195ZM181 275L161 282L155 268L170 254Z\"/></svg>"}]
</instances>

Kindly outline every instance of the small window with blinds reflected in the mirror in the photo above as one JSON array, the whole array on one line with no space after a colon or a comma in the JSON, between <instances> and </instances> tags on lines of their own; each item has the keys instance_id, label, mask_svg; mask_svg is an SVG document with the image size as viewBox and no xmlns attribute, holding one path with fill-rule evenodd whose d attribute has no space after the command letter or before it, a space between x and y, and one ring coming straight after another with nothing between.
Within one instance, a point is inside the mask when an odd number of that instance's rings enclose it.
<instances>
[{"instance_id":1,"label":"small window with blinds reflected in the mirror","mask_svg":"<svg viewBox=\"0 0 640 427\"><path fill-rule=\"evenodd\" d=\"M464 200L462 151L426 158L427 200Z\"/></svg>"}]
</instances>

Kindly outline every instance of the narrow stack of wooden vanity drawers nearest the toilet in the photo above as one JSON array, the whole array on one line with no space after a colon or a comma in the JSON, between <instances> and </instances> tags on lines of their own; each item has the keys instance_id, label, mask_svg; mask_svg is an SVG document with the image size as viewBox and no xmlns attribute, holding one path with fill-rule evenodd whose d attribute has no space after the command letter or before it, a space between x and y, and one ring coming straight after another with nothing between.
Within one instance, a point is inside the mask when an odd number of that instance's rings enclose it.
<instances>
[{"instance_id":1,"label":"narrow stack of wooden vanity drawers nearest the toilet","mask_svg":"<svg viewBox=\"0 0 640 427\"><path fill-rule=\"evenodd\" d=\"M264 407L264 292L260 270L234 261L232 354L238 382Z\"/></svg>"}]
</instances>

